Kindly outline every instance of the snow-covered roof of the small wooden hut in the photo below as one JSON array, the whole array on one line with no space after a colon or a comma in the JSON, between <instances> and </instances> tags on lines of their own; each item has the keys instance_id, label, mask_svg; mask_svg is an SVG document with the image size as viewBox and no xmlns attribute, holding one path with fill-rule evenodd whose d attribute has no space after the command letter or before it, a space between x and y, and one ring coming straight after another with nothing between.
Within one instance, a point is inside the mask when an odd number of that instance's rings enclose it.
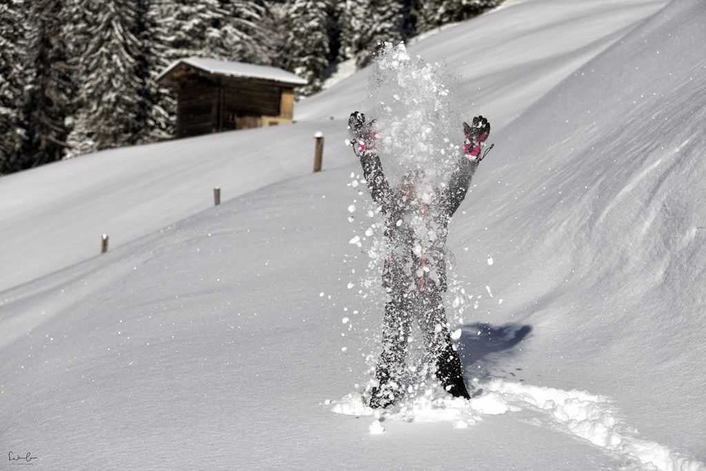
<instances>
[{"instance_id":1,"label":"snow-covered roof of the small wooden hut","mask_svg":"<svg viewBox=\"0 0 706 471\"><path fill-rule=\"evenodd\" d=\"M169 66L157 76L157 80L167 76L169 71L172 71L172 69L179 64L188 64L202 71L222 76L260 78L280 83L291 83L292 85L306 85L306 83L308 83L304 78L294 73L284 71L281 68L258 66L256 64L246 64L245 62L208 59L205 57L184 57L183 59L178 59L172 62L172 64L169 64Z\"/></svg>"}]
</instances>

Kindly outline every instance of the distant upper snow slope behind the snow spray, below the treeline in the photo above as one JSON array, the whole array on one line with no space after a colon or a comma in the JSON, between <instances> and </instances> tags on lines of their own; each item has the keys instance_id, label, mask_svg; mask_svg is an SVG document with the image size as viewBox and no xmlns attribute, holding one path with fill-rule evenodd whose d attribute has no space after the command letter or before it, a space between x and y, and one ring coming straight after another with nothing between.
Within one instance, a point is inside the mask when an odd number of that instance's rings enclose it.
<instances>
[{"instance_id":1,"label":"distant upper snow slope behind the snow spray, below the treeline","mask_svg":"<svg viewBox=\"0 0 706 471\"><path fill-rule=\"evenodd\" d=\"M460 73L458 100L491 114L496 128L664 6L664 0L508 0L500 8L409 47ZM297 107L300 120L341 119L366 96L370 71Z\"/></svg>"}]
</instances>

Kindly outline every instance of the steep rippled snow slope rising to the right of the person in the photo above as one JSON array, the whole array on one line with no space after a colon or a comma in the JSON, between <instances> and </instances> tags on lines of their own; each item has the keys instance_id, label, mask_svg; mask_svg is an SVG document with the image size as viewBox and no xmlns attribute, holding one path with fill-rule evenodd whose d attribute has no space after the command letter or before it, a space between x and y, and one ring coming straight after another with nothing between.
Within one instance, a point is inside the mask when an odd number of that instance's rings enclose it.
<instances>
[{"instance_id":1,"label":"steep rippled snow slope rising to the right of the person","mask_svg":"<svg viewBox=\"0 0 706 471\"><path fill-rule=\"evenodd\" d=\"M704 2L671 4L501 130L465 206L482 217L454 227L500 319L534 327L542 383L610 392L702 458L704 24Z\"/></svg>"}]
</instances>

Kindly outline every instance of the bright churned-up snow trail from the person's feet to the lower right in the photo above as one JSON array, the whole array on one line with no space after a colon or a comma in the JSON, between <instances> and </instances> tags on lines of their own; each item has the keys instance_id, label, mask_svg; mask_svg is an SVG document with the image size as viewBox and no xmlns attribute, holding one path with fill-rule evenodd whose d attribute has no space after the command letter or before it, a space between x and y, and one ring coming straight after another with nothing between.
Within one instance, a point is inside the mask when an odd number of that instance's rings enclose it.
<instances>
[{"instance_id":1,"label":"bright churned-up snow trail from the person's feet to the lower right","mask_svg":"<svg viewBox=\"0 0 706 471\"><path fill-rule=\"evenodd\" d=\"M465 428L483 415L533 412L546 427L556 427L604 448L628 461L627 468L665 471L706 470L706 465L671 451L666 446L640 438L638 431L623 424L616 407L602 395L582 390L561 390L493 379L478 385L484 394L470 401L459 398L415 398L402 402L393 412L367 407L361 395L351 393L331 403L331 410L345 415L374 415L371 433L384 430L381 422L454 422ZM374 426L374 427L373 427ZM374 430L373 430L374 429Z\"/></svg>"}]
</instances>

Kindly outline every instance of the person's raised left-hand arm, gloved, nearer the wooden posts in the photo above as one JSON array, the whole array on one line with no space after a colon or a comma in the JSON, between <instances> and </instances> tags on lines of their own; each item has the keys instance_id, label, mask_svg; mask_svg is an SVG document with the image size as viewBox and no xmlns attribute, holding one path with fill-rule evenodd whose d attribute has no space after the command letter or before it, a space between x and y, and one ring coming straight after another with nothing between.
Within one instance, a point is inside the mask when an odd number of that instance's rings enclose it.
<instances>
[{"instance_id":1,"label":"person's raised left-hand arm, gloved, nearer the wooden posts","mask_svg":"<svg viewBox=\"0 0 706 471\"><path fill-rule=\"evenodd\" d=\"M392 190L380 163L380 156L375 150L374 136L371 129L372 121L366 123L365 115L353 112L348 120L351 131L353 150L360 158L363 175L370 194L383 213L389 214L392 205Z\"/></svg>"}]
</instances>

